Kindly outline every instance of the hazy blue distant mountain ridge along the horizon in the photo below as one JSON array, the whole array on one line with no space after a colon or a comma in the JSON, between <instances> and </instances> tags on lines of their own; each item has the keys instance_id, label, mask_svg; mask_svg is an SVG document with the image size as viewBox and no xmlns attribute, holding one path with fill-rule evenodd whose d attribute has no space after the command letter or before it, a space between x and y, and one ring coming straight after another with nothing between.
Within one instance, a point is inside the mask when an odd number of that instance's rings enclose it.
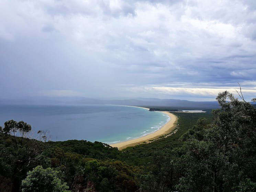
<instances>
[{"instance_id":1,"label":"hazy blue distant mountain ridge along the horizon","mask_svg":"<svg viewBox=\"0 0 256 192\"><path fill-rule=\"evenodd\" d=\"M0 100L0 104L39 104L39 105L79 105L79 104L111 104L144 106L148 108L177 108L177 109L216 109L219 104L216 101L188 101L179 99L157 99L157 98L136 98L136 99L93 99L84 97L31 97L19 100Z\"/></svg>"}]
</instances>

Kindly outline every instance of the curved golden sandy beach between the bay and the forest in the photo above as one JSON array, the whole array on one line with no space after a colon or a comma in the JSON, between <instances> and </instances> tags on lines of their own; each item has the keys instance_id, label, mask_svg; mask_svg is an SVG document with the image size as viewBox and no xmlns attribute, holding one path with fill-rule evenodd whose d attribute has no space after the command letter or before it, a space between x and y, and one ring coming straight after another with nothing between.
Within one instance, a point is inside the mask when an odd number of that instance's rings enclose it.
<instances>
[{"instance_id":1,"label":"curved golden sandy beach between the bay and the forest","mask_svg":"<svg viewBox=\"0 0 256 192\"><path fill-rule=\"evenodd\" d=\"M142 107L140 107L140 108L142 108ZM144 108L144 109L148 109L148 108ZM110 146L118 147L119 150L122 150L126 147L135 146L135 145L138 145L138 144L143 144L145 142L149 143L149 140L157 139L161 135L165 135L165 134L170 133L176 127L178 117L176 115L168 112L168 111L162 111L162 112L170 117L170 121L168 121L163 127L161 127L156 132L150 133L150 134L145 135L145 136L140 137L140 138L128 140L128 141L125 141L125 142L110 144Z\"/></svg>"}]
</instances>

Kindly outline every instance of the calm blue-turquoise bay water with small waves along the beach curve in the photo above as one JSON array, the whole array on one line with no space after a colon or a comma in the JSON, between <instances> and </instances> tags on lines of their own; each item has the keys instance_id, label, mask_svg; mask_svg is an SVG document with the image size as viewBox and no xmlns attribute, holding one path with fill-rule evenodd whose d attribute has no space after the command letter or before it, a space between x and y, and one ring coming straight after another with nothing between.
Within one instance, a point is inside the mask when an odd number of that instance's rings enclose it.
<instances>
[{"instance_id":1,"label":"calm blue-turquoise bay water with small waves along the beach curve","mask_svg":"<svg viewBox=\"0 0 256 192\"><path fill-rule=\"evenodd\" d=\"M161 112L119 105L0 105L0 126L25 121L53 141L69 139L117 143L157 131L169 121Z\"/></svg>"}]
</instances>

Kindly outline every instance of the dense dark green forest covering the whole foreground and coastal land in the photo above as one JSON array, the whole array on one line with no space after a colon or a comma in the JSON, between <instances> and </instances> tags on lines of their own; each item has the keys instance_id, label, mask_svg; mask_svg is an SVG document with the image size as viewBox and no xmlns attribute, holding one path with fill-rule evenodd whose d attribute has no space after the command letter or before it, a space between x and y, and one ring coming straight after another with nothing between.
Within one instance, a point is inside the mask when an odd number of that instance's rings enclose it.
<instances>
[{"instance_id":1,"label":"dense dark green forest covering the whole foreground and coastal land","mask_svg":"<svg viewBox=\"0 0 256 192\"><path fill-rule=\"evenodd\" d=\"M1 192L255 192L256 109L229 92L221 109L175 113L177 131L119 151L100 142L31 139L31 126L0 127ZM229 101L227 101L227 99Z\"/></svg>"}]
</instances>

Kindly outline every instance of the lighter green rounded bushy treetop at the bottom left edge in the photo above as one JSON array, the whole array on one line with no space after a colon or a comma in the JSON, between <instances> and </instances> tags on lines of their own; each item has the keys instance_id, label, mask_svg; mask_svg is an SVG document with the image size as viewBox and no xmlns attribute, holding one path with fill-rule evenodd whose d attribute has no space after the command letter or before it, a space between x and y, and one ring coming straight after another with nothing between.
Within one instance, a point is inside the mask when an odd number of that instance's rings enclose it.
<instances>
[{"instance_id":1,"label":"lighter green rounded bushy treetop at the bottom left edge","mask_svg":"<svg viewBox=\"0 0 256 192\"><path fill-rule=\"evenodd\" d=\"M66 183L58 178L58 171L52 168L35 167L22 180L22 192L69 192Z\"/></svg>"}]
</instances>

